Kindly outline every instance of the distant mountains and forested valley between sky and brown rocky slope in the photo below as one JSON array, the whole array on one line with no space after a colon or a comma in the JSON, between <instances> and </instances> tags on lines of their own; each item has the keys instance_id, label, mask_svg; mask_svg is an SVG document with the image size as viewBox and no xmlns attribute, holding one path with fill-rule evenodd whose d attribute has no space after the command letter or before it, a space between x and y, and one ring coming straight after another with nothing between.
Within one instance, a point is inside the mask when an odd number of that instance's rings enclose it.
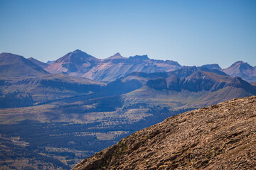
<instances>
[{"instance_id":1,"label":"distant mountains and forested valley between sky and brown rocky slope","mask_svg":"<svg viewBox=\"0 0 256 170\"><path fill-rule=\"evenodd\" d=\"M255 95L248 65L188 67L119 53L100 60L80 50L43 63L1 53L0 166L69 169L171 115Z\"/></svg>"}]
</instances>

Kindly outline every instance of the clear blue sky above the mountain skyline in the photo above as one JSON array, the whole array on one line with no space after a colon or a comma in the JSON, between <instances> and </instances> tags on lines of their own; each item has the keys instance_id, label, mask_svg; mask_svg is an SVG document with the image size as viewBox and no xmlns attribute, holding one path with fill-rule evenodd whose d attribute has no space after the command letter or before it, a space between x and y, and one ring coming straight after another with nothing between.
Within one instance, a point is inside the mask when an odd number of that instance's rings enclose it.
<instances>
[{"instance_id":1,"label":"clear blue sky above the mountain skyline","mask_svg":"<svg viewBox=\"0 0 256 170\"><path fill-rule=\"evenodd\" d=\"M0 0L0 52L46 62L76 49L255 66L256 1Z\"/></svg>"}]
</instances>

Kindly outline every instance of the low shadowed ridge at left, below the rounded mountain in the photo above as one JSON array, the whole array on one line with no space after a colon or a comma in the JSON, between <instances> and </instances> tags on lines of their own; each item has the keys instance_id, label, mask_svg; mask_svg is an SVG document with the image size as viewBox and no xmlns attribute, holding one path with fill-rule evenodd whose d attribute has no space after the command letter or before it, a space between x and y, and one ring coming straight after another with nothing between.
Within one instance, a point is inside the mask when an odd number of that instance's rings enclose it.
<instances>
[{"instance_id":1,"label":"low shadowed ridge at left, below the rounded mountain","mask_svg":"<svg viewBox=\"0 0 256 170\"><path fill-rule=\"evenodd\" d=\"M0 108L33 106L62 98L86 96L101 91L104 83L65 74L26 79L0 79Z\"/></svg>"}]
</instances>

